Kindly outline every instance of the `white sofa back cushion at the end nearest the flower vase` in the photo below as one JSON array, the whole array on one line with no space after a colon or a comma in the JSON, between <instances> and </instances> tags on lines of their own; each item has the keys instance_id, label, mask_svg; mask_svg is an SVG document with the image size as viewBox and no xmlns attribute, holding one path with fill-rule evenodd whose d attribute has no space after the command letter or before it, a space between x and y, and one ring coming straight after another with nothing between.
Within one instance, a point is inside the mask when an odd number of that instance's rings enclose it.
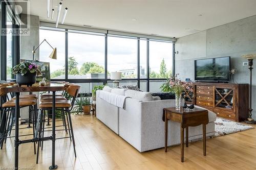
<instances>
[{"instance_id":1,"label":"white sofa back cushion at the end nearest the flower vase","mask_svg":"<svg viewBox=\"0 0 256 170\"><path fill-rule=\"evenodd\" d=\"M150 92L126 90L125 96L139 100L140 102L153 101L153 96L151 95Z\"/></svg>"}]
</instances>

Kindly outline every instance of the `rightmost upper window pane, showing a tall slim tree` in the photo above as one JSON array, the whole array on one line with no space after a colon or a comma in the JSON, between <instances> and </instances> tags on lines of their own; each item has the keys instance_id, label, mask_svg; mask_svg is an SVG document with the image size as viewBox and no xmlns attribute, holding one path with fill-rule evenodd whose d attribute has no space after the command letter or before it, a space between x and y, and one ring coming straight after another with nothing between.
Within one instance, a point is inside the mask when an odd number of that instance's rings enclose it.
<instances>
[{"instance_id":1,"label":"rightmost upper window pane, showing a tall slim tree","mask_svg":"<svg viewBox=\"0 0 256 170\"><path fill-rule=\"evenodd\" d=\"M173 44L150 41L149 46L150 78L166 78L166 75L171 75L173 71Z\"/></svg>"}]
</instances>

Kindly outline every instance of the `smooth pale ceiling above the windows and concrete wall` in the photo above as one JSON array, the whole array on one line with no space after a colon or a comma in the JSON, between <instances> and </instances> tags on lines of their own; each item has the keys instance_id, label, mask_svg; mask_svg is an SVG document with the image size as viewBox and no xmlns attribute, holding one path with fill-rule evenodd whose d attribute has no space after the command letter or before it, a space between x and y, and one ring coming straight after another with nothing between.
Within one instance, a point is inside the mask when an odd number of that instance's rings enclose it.
<instances>
[{"instance_id":1,"label":"smooth pale ceiling above the windows and concrete wall","mask_svg":"<svg viewBox=\"0 0 256 170\"><path fill-rule=\"evenodd\" d=\"M30 13L40 21L56 21L57 4L68 8L64 24L92 26L166 37L182 37L256 15L255 0L50 0L54 19L47 18L47 0L31 0ZM51 11L52 5L50 5Z\"/></svg>"}]
</instances>

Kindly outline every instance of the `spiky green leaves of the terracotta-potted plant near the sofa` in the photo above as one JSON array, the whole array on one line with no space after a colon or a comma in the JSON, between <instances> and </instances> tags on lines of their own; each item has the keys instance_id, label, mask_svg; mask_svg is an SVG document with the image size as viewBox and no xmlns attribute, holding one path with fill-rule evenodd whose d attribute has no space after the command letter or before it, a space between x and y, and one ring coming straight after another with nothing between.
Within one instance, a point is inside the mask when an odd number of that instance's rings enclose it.
<instances>
[{"instance_id":1,"label":"spiky green leaves of the terracotta-potted plant near the sofa","mask_svg":"<svg viewBox=\"0 0 256 170\"><path fill-rule=\"evenodd\" d=\"M73 108L72 113L74 115L79 115L83 113L83 106L91 105L91 98L86 93L81 93L79 98L75 100L75 107Z\"/></svg>"}]
</instances>

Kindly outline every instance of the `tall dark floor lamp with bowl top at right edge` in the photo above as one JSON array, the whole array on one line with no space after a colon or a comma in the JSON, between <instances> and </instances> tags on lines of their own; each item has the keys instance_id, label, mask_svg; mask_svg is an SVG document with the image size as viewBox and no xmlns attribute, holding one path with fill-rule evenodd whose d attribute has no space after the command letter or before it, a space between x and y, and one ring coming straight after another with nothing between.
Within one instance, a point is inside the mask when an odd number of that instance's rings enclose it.
<instances>
[{"instance_id":1,"label":"tall dark floor lamp with bowl top at right edge","mask_svg":"<svg viewBox=\"0 0 256 170\"><path fill-rule=\"evenodd\" d=\"M251 87L252 87L252 65L253 65L253 59L256 58L256 54L245 54L242 55L242 57L246 58L248 60L248 66L249 66L249 70L250 70L250 91L249 91L249 117L247 118L247 120L245 120L245 123L247 124L256 124L256 121L251 117L251 112L252 112L252 108L251 108Z\"/></svg>"}]
</instances>

